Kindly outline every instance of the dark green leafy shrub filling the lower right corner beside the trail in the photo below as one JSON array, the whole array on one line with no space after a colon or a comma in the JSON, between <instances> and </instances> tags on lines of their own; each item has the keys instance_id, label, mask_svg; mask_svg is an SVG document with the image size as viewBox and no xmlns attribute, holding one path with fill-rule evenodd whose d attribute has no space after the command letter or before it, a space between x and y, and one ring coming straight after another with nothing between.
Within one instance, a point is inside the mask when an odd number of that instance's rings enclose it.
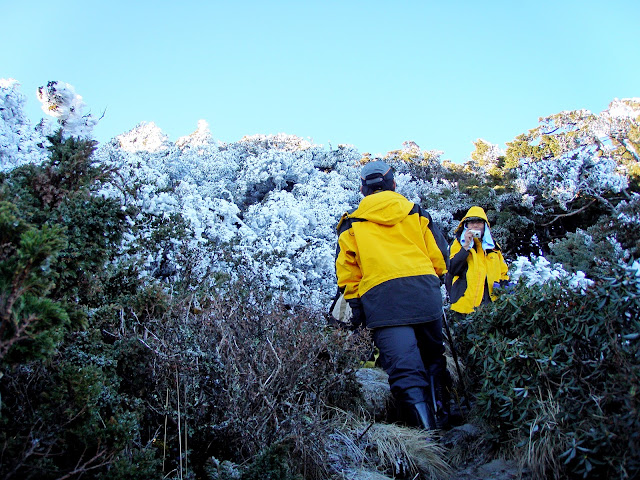
<instances>
[{"instance_id":1,"label":"dark green leafy shrub filling the lower right corner beside the trail","mask_svg":"<svg viewBox=\"0 0 640 480\"><path fill-rule=\"evenodd\" d=\"M585 295L521 286L478 309L456 328L479 415L506 448L536 452L545 474L634 478L639 318L637 280L620 268Z\"/></svg>"}]
</instances>

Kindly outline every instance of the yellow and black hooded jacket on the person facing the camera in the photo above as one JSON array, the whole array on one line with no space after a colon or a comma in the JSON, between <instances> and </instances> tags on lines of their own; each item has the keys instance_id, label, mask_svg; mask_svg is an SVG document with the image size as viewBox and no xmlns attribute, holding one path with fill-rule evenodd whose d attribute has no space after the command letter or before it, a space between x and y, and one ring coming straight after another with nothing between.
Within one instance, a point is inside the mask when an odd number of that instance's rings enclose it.
<instances>
[{"instance_id":1,"label":"yellow and black hooded jacket on the person facing the camera","mask_svg":"<svg viewBox=\"0 0 640 480\"><path fill-rule=\"evenodd\" d=\"M487 214L481 207L471 207L456 230L456 239L451 245L451 310L459 313L471 313L483 301L495 300L493 283L509 280L508 267L498 244L485 251L482 239L474 238L473 247L466 251L460 242L464 223L469 218L481 218L489 228Z\"/></svg>"}]
</instances>

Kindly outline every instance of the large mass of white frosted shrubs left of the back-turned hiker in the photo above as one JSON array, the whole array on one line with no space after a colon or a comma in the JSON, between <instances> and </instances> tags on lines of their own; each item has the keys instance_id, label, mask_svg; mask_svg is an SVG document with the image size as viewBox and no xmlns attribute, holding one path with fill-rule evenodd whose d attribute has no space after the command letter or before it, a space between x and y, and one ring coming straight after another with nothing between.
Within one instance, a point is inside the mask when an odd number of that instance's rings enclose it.
<instances>
[{"instance_id":1,"label":"large mass of white frosted shrubs left of the back-turned hiker","mask_svg":"<svg viewBox=\"0 0 640 480\"><path fill-rule=\"evenodd\" d=\"M139 212L123 258L137 258L146 275L173 265L165 271L177 279L188 265L202 286L214 272L235 278L243 263L291 302L324 305L333 293L335 225L361 198L355 149L326 151L286 135L221 144L203 122L173 144L141 123L96 159L118 171L102 194ZM154 242L154 231L176 216L181 231Z\"/></svg>"}]
</instances>

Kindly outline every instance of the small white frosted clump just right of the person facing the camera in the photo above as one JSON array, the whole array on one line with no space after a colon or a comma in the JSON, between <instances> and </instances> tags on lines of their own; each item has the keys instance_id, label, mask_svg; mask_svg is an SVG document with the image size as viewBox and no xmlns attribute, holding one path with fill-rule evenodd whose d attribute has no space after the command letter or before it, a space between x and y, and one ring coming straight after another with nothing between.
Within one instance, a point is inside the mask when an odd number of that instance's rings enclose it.
<instances>
[{"instance_id":1,"label":"small white frosted clump just right of the person facing the camera","mask_svg":"<svg viewBox=\"0 0 640 480\"><path fill-rule=\"evenodd\" d=\"M523 282L528 287L542 285L552 281L566 281L569 288L579 290L583 294L593 285L584 272L567 272L561 264L552 264L545 257L518 257L509 267L509 278L514 282Z\"/></svg>"}]
</instances>

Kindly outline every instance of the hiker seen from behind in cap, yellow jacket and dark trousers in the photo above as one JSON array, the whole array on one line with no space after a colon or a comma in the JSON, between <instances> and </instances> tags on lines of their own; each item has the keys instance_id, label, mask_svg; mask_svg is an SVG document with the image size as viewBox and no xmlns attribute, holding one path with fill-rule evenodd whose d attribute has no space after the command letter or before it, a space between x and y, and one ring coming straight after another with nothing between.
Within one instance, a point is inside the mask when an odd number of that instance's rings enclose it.
<instances>
[{"instance_id":1,"label":"hiker seen from behind in cap, yellow jacket and dark trousers","mask_svg":"<svg viewBox=\"0 0 640 480\"><path fill-rule=\"evenodd\" d=\"M354 327L372 330L382 368L407 421L427 429L448 422L440 278L447 242L424 212L395 192L382 161L361 172L358 208L338 223L336 275Z\"/></svg>"}]
</instances>

